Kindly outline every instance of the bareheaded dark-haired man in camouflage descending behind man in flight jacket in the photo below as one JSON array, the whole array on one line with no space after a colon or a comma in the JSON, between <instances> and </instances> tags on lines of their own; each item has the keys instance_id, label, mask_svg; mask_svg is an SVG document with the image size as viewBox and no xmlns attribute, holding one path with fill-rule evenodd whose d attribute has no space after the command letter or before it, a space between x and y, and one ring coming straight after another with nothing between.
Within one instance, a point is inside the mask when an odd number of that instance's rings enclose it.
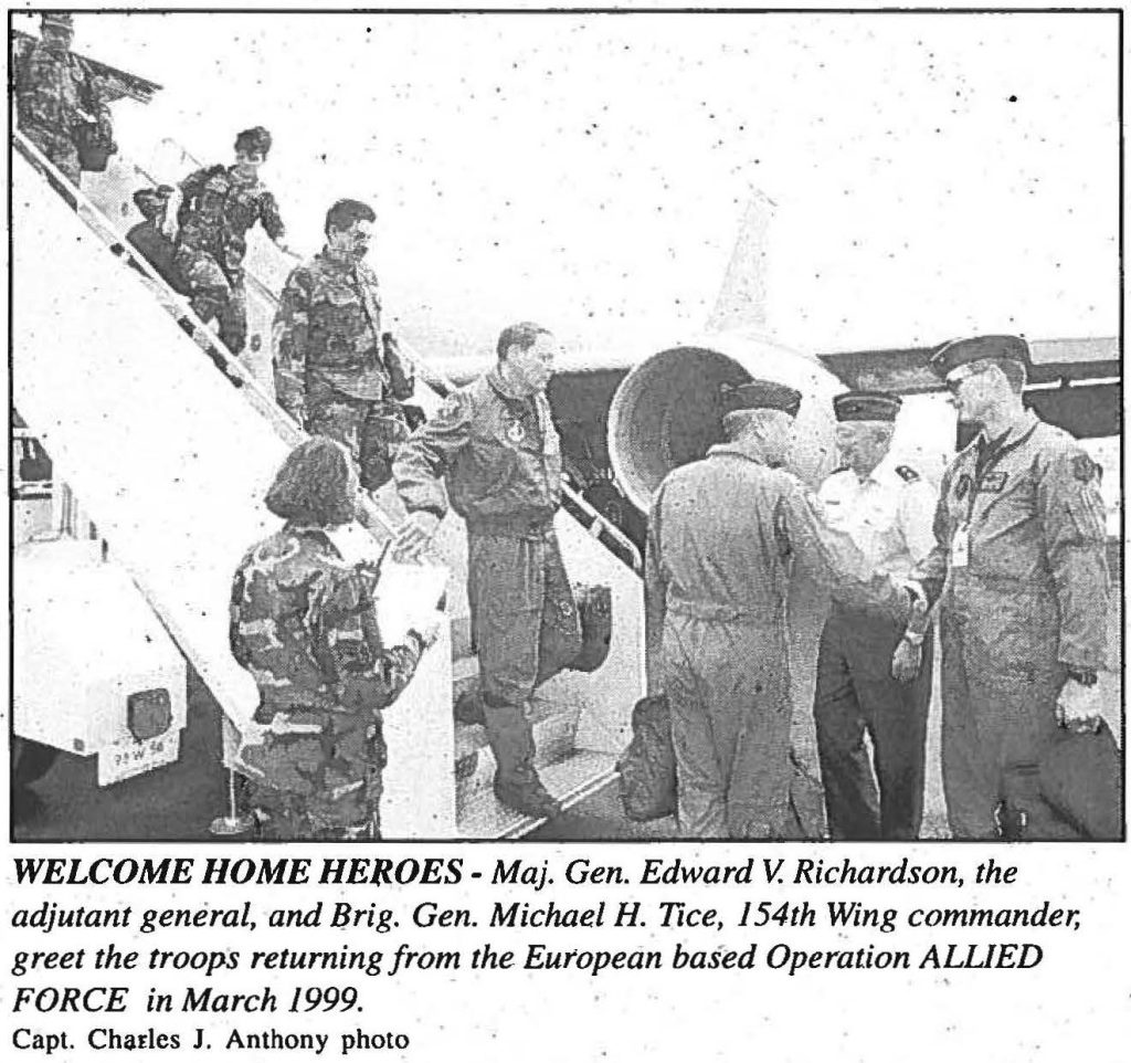
<instances>
[{"instance_id":1,"label":"bareheaded dark-haired man in camouflage descending behind man in flight jacket","mask_svg":"<svg viewBox=\"0 0 1131 1063\"><path fill-rule=\"evenodd\" d=\"M345 444L361 483L377 490L408 438L400 401L413 378L381 333L377 275L362 259L375 215L342 199L326 215L326 247L287 278L275 318L275 393L308 431Z\"/></svg>"}]
</instances>

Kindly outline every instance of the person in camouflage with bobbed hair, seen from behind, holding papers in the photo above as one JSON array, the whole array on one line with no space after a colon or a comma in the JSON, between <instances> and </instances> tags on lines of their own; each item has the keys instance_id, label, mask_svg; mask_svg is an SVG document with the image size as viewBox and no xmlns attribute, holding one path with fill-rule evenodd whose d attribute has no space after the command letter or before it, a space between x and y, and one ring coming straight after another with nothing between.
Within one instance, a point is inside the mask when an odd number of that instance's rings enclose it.
<instances>
[{"instance_id":1,"label":"person in camouflage with bobbed hair, seen from behind, holding papers","mask_svg":"<svg viewBox=\"0 0 1131 1063\"><path fill-rule=\"evenodd\" d=\"M248 551L232 586L232 653L259 685L264 728L241 749L241 770L262 833L278 840L379 837L380 710L435 641L430 627L382 644L375 574L347 565L330 537L356 491L339 444L296 447L266 499L286 524Z\"/></svg>"}]
</instances>

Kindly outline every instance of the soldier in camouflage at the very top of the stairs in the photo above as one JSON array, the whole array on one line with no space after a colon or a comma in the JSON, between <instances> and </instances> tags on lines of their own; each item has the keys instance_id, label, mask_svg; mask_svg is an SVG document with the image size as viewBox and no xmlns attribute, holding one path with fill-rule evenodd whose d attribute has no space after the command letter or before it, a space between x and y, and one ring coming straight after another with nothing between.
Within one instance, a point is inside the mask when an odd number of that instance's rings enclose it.
<instances>
[{"instance_id":1,"label":"soldier in camouflage at the very top of the stairs","mask_svg":"<svg viewBox=\"0 0 1131 1063\"><path fill-rule=\"evenodd\" d=\"M16 80L19 128L76 187L79 183L76 135L95 126L96 136L115 151L110 109L98 79L71 54L74 19L62 12L42 16L41 40Z\"/></svg>"}]
</instances>

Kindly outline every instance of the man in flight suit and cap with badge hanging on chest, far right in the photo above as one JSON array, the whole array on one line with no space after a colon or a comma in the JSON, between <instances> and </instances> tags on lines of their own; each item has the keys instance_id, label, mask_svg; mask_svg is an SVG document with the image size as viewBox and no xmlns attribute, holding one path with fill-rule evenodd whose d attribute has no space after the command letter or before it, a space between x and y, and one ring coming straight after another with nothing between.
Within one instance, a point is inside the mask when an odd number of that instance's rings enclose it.
<instances>
[{"instance_id":1,"label":"man in flight suit and cap with badge hanging on chest, far right","mask_svg":"<svg viewBox=\"0 0 1131 1063\"><path fill-rule=\"evenodd\" d=\"M917 575L940 603L942 778L955 838L1079 837L1041 794L1057 728L1100 719L1108 576L1096 464L1025 409L1028 344L977 336L932 368L982 430L943 477ZM914 620L895 667L922 652Z\"/></svg>"}]
</instances>

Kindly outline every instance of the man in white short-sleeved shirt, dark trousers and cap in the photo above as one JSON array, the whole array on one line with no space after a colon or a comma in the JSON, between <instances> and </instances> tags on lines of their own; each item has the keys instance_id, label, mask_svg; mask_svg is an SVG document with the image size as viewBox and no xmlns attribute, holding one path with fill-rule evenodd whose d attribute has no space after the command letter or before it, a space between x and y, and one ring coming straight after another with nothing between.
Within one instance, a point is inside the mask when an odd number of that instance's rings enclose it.
<instances>
[{"instance_id":1,"label":"man in white short-sleeved shirt, dark trousers and cap","mask_svg":"<svg viewBox=\"0 0 1131 1063\"><path fill-rule=\"evenodd\" d=\"M832 400L846 468L821 485L818 498L829 523L852 537L877 572L907 577L934 547L935 492L909 465L889 460L900 405L897 396L877 392ZM834 593L818 652L813 712L835 839L918 837L932 640L927 628L915 675L901 683L891 674L891 658L903 635L904 625L889 612Z\"/></svg>"}]
</instances>

